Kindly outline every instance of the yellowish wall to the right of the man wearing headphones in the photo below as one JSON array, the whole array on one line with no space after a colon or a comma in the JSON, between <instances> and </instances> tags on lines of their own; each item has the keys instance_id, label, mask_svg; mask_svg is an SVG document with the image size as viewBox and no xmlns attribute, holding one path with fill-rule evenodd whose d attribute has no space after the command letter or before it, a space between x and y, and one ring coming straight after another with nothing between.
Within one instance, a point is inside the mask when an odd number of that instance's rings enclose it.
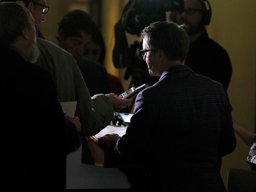
<instances>
[{"instance_id":1,"label":"yellowish wall to the right of the man wearing headphones","mask_svg":"<svg viewBox=\"0 0 256 192\"><path fill-rule=\"evenodd\" d=\"M228 95L233 106L233 121L255 130L256 103L256 1L214 0L209 35L228 52L233 73ZM221 174L226 183L230 167L250 169L246 162L249 147L237 137L236 150L223 158Z\"/></svg>"}]
</instances>

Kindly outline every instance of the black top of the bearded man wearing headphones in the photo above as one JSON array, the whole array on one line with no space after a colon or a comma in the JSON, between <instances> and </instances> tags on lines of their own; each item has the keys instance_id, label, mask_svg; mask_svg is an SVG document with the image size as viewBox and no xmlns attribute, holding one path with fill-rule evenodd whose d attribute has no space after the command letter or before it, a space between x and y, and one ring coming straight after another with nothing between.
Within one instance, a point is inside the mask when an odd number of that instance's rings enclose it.
<instances>
[{"instance_id":1,"label":"black top of the bearded man wearing headphones","mask_svg":"<svg viewBox=\"0 0 256 192\"><path fill-rule=\"evenodd\" d=\"M227 89L232 75L232 66L227 51L217 42L203 35L189 45L185 60L195 73L210 77L224 84Z\"/></svg>"}]
</instances>

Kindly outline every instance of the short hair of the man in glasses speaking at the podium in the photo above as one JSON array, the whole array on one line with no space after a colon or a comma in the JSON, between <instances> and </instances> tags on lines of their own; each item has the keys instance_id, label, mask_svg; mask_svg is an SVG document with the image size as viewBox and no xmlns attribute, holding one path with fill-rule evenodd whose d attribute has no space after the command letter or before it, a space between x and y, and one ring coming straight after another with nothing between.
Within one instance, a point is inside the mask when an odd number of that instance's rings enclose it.
<instances>
[{"instance_id":1,"label":"short hair of the man in glasses speaking at the podium","mask_svg":"<svg viewBox=\"0 0 256 192\"><path fill-rule=\"evenodd\" d=\"M184 61L188 52L189 38L183 26L173 22L155 22L141 31L150 49L159 49L169 60Z\"/></svg>"}]
</instances>

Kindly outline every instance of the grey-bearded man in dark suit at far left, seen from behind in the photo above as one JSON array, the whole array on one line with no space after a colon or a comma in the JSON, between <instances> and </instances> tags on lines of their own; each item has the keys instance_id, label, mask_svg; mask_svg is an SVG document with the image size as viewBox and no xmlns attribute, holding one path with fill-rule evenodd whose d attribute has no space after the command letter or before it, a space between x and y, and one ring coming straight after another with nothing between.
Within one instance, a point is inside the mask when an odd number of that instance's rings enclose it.
<instances>
[{"instance_id":1,"label":"grey-bearded man in dark suit at far left, seen from behind","mask_svg":"<svg viewBox=\"0 0 256 192\"><path fill-rule=\"evenodd\" d=\"M79 146L79 136L66 123L52 75L32 64L38 55L29 10L1 3L2 187L61 191L66 189L67 154Z\"/></svg>"}]
</instances>

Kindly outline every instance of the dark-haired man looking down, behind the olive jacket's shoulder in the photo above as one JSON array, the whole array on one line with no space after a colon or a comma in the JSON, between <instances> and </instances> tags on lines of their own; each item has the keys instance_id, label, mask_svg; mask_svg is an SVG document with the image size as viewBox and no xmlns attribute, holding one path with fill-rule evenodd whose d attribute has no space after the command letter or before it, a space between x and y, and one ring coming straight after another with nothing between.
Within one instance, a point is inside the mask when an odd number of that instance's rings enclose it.
<instances>
[{"instance_id":1,"label":"dark-haired man looking down, behind the olive jacket's shoulder","mask_svg":"<svg viewBox=\"0 0 256 192\"><path fill-rule=\"evenodd\" d=\"M96 23L82 10L68 12L59 22L58 44L75 58L91 96L112 92L105 67L94 60L82 58L98 34Z\"/></svg>"}]
</instances>

